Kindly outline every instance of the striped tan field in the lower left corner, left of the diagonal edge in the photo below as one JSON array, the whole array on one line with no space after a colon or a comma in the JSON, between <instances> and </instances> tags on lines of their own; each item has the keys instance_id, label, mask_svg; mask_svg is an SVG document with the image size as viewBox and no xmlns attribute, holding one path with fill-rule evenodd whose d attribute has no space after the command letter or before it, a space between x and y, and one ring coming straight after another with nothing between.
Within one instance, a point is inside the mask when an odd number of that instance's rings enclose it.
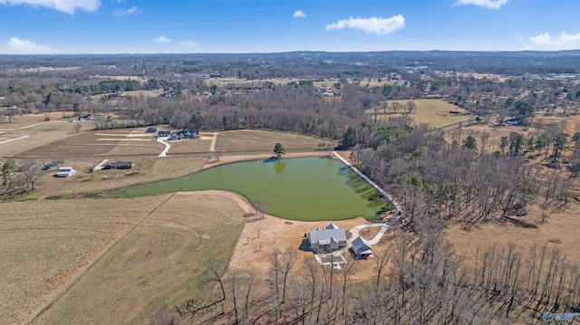
<instances>
[{"instance_id":1,"label":"striped tan field in the lower left corner, left of the diagonal edge","mask_svg":"<svg viewBox=\"0 0 580 325\"><path fill-rule=\"evenodd\" d=\"M160 200L1 203L1 322L19 324L34 316Z\"/></svg>"}]
</instances>

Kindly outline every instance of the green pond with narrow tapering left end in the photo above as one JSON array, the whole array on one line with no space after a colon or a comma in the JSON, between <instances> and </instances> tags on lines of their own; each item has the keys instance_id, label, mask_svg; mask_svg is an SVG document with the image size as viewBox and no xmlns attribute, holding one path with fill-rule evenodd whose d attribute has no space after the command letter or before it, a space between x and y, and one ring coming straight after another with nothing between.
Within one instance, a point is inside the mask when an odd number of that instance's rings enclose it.
<instances>
[{"instance_id":1,"label":"green pond with narrow tapering left end","mask_svg":"<svg viewBox=\"0 0 580 325\"><path fill-rule=\"evenodd\" d=\"M239 162L147 184L124 187L110 196L154 196L180 190L221 189L246 196L254 206L285 219L375 220L388 206L380 194L332 158L291 158Z\"/></svg>"}]
</instances>

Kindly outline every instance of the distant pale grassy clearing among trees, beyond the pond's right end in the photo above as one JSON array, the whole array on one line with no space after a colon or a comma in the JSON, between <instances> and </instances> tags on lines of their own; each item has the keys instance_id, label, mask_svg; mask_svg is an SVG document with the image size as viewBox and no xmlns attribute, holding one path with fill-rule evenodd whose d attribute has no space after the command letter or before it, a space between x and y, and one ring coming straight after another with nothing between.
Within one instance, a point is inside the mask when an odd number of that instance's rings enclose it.
<instances>
[{"instance_id":1,"label":"distant pale grassy clearing among trees, beyond the pond's right end","mask_svg":"<svg viewBox=\"0 0 580 325\"><path fill-rule=\"evenodd\" d=\"M406 104L409 100L389 100L391 102L396 101L401 104ZM436 129L444 128L449 125L457 124L459 122L468 121L470 119L475 119L475 117L470 115L464 115L463 109L450 104L446 100L411 100L417 105L417 110L411 114L411 118L415 124L427 123L435 127ZM461 112L458 115L449 114L449 110L459 110ZM384 119L394 116L401 116L401 114L382 114L382 110L379 109L378 118ZM373 109L367 110L369 118L374 118Z\"/></svg>"}]
</instances>

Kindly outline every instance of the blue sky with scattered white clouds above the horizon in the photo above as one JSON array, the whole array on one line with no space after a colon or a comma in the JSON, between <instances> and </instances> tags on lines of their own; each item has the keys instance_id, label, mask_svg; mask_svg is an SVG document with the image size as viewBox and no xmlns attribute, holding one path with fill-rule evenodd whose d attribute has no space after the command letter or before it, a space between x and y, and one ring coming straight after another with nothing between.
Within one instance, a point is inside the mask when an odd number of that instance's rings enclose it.
<instances>
[{"instance_id":1,"label":"blue sky with scattered white clouds above the horizon","mask_svg":"<svg viewBox=\"0 0 580 325\"><path fill-rule=\"evenodd\" d=\"M580 49L580 0L0 0L0 53Z\"/></svg>"}]
</instances>

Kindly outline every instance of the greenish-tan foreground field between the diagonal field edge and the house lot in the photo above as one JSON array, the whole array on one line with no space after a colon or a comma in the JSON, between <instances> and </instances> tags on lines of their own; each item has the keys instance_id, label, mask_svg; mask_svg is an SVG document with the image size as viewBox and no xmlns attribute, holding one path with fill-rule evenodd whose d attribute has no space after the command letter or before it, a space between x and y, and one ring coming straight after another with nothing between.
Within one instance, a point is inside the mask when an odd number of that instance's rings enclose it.
<instances>
[{"instance_id":1,"label":"greenish-tan foreground field between the diagonal field edge and the house lot","mask_svg":"<svg viewBox=\"0 0 580 325\"><path fill-rule=\"evenodd\" d=\"M33 323L144 324L164 304L203 296L200 272L209 257L229 261L243 214L222 196L171 196Z\"/></svg>"}]
</instances>

